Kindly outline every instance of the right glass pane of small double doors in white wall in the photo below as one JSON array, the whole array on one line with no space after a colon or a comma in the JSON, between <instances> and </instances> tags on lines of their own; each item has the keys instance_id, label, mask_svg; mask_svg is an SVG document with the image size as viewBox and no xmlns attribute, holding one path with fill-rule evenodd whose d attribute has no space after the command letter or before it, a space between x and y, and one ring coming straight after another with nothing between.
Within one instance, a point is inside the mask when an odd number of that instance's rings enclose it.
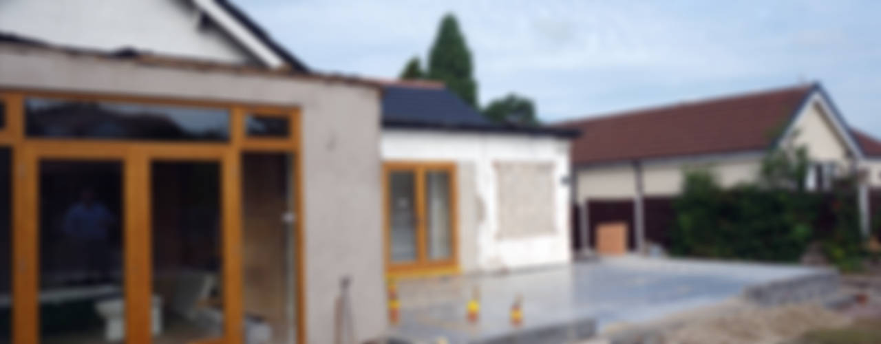
<instances>
[{"instance_id":1,"label":"right glass pane of small double doors in white wall","mask_svg":"<svg viewBox=\"0 0 881 344\"><path fill-rule=\"evenodd\" d=\"M450 199L449 173L426 173L426 229L428 230L428 259L444 260L450 257Z\"/></svg>"}]
</instances>

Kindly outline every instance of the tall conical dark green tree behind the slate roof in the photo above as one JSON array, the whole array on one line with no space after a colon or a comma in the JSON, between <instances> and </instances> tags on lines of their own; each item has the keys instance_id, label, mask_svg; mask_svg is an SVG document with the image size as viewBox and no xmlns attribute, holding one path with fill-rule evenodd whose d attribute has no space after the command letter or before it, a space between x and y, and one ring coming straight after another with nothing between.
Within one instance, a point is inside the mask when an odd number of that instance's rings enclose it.
<instances>
[{"instance_id":1,"label":"tall conical dark green tree behind the slate roof","mask_svg":"<svg viewBox=\"0 0 881 344\"><path fill-rule=\"evenodd\" d=\"M452 14L441 27L428 55L428 78L441 81L470 106L477 106L478 84L472 76L471 52Z\"/></svg>"}]
</instances>

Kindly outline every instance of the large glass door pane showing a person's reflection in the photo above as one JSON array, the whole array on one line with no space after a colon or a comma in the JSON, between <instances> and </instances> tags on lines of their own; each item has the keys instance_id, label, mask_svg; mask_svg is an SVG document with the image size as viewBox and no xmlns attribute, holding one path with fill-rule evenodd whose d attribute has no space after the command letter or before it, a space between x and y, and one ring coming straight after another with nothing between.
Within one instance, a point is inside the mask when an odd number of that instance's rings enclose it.
<instances>
[{"instance_id":1,"label":"large glass door pane showing a person's reflection","mask_svg":"<svg viewBox=\"0 0 881 344\"><path fill-rule=\"evenodd\" d=\"M40 164L42 343L124 338L122 163Z\"/></svg>"}]
</instances>

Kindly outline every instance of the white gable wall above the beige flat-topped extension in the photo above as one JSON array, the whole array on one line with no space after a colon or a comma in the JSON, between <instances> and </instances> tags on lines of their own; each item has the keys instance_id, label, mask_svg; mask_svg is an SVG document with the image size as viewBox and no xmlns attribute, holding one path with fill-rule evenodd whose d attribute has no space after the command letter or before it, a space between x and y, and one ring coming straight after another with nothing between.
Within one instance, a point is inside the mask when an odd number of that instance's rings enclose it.
<instances>
[{"instance_id":1,"label":"white gable wall above the beige flat-topped extension","mask_svg":"<svg viewBox=\"0 0 881 344\"><path fill-rule=\"evenodd\" d=\"M3 0L0 32L78 48L251 60L218 27L200 28L197 13L179 0Z\"/></svg>"}]
</instances>

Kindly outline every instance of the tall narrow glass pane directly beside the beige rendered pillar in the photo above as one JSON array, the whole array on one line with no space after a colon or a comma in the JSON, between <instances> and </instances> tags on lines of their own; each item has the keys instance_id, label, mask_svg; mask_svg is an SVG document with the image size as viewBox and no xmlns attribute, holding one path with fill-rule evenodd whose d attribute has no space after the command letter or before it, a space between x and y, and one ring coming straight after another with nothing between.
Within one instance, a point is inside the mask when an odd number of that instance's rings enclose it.
<instances>
[{"instance_id":1,"label":"tall narrow glass pane directly beside the beige rendered pillar","mask_svg":"<svg viewBox=\"0 0 881 344\"><path fill-rule=\"evenodd\" d=\"M242 157L242 268L248 326L269 331L260 343L296 338L296 243L292 155L246 153Z\"/></svg>"}]
</instances>

